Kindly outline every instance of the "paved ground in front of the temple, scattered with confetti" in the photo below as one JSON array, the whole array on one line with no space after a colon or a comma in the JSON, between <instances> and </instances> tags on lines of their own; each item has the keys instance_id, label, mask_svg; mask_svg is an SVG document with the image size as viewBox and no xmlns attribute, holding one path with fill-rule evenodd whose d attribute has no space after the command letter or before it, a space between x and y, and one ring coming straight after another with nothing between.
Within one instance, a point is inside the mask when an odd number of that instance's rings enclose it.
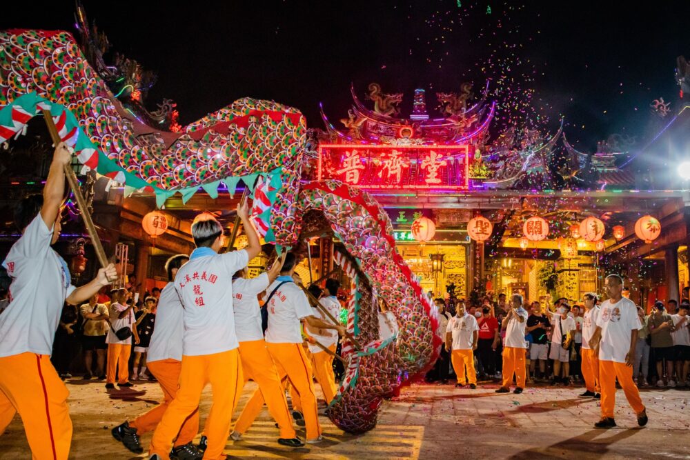
<instances>
[{"instance_id":1,"label":"paved ground in front of the temple, scattered with confetti","mask_svg":"<svg viewBox=\"0 0 690 460\"><path fill-rule=\"evenodd\" d=\"M74 459L136 459L110 436L110 428L148 410L161 397L155 383L138 391L106 393L102 383L68 383L75 425ZM253 391L246 386L239 408ZM689 390L642 390L649 424L639 428L618 391L619 428L595 430L598 401L578 398L582 388L527 388L523 394L495 394L450 385L415 385L382 406L377 428L361 436L345 434L322 418L326 441L311 449L282 448L264 411L244 441L228 441L237 459L690 459ZM210 392L202 414L208 414ZM302 433L304 437L304 433ZM145 434L144 444L150 441ZM0 437L0 459L28 459L19 417Z\"/></svg>"}]
</instances>

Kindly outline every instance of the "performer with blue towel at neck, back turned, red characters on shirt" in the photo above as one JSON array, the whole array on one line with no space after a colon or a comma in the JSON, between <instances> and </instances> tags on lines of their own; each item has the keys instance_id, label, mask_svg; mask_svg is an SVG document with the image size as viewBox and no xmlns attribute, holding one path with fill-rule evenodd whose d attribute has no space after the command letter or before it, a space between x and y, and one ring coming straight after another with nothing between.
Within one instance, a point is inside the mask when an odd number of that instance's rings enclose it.
<instances>
[{"instance_id":1,"label":"performer with blue towel at neck, back turned, red characters on shirt","mask_svg":"<svg viewBox=\"0 0 690 460\"><path fill-rule=\"evenodd\" d=\"M199 406L206 384L213 388L213 408L204 434L208 447L204 457L221 458L230 432L230 421L244 379L237 348L233 312L233 275L261 251L259 237L249 220L248 204L237 207L248 246L218 254L223 227L215 219L192 224L197 248L175 277L175 289L184 309L182 366L179 390L158 424L151 440L152 459L167 458L172 439Z\"/></svg>"}]
</instances>

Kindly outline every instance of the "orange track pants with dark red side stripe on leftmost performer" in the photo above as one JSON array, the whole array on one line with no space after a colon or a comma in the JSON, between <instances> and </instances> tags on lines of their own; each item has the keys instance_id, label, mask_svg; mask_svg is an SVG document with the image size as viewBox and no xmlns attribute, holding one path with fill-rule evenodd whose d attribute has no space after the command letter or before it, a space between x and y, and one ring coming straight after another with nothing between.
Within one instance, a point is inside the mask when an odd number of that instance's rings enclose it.
<instances>
[{"instance_id":1,"label":"orange track pants with dark red side stripe on leftmost performer","mask_svg":"<svg viewBox=\"0 0 690 460\"><path fill-rule=\"evenodd\" d=\"M72 441L69 395L48 354L0 358L0 434L19 412L32 458L67 459Z\"/></svg>"}]
</instances>

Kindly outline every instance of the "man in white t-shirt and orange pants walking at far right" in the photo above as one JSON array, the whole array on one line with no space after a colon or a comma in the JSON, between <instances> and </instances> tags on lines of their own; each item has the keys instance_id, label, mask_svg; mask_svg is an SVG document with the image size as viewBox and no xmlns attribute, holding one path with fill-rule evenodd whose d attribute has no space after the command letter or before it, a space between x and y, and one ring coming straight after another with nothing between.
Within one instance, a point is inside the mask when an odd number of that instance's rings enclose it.
<instances>
[{"instance_id":1,"label":"man in white t-shirt and orange pants walking at far right","mask_svg":"<svg viewBox=\"0 0 690 460\"><path fill-rule=\"evenodd\" d=\"M623 388L630 406L638 415L638 425L647 424L647 411L640 399L638 387L633 382L633 363L638 330L642 328L635 303L621 296L623 279L618 274L609 274L604 283L609 299L601 306L597 328L589 346L599 350L599 377L602 395L602 418L595 428L615 426L615 380Z\"/></svg>"}]
</instances>

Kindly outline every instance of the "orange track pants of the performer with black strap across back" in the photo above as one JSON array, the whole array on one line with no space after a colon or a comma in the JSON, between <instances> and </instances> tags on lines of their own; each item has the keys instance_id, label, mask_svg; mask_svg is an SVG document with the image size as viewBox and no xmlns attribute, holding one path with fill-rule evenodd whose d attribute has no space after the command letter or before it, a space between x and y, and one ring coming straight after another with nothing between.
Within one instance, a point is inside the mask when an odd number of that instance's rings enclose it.
<instances>
[{"instance_id":1,"label":"orange track pants of the performer with black strap across back","mask_svg":"<svg viewBox=\"0 0 690 460\"><path fill-rule=\"evenodd\" d=\"M307 439L316 439L321 435L321 425L316 406L314 393L314 381L312 377L311 363L306 358L304 348L300 343L266 343L266 348L278 371L278 377L285 376L297 392L297 401L301 402L304 424L306 425ZM295 408L293 399L293 408ZM239 426L251 426L264 406L264 397L261 392L255 392L253 397L244 406L242 414L237 419ZM295 409L296 410L296 409Z\"/></svg>"}]
</instances>

